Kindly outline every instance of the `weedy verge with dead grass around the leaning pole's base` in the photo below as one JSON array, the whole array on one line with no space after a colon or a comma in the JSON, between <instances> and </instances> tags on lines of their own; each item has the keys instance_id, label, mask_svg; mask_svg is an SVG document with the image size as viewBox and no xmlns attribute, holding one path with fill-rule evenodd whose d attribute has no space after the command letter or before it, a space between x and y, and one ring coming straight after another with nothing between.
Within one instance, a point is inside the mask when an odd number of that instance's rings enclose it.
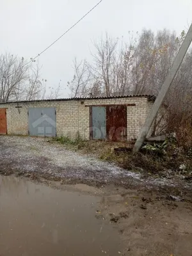
<instances>
[{"instance_id":1,"label":"weedy verge with dead grass around the leaning pole's base","mask_svg":"<svg viewBox=\"0 0 192 256\"><path fill-rule=\"evenodd\" d=\"M141 152L116 152L115 148L130 147L127 142L83 141L80 137L53 138L70 150L81 154L91 154L103 161L118 164L127 170L135 170L146 175L172 177L182 175L192 180L192 148L184 150L177 141L168 140L162 144L145 145Z\"/></svg>"}]
</instances>

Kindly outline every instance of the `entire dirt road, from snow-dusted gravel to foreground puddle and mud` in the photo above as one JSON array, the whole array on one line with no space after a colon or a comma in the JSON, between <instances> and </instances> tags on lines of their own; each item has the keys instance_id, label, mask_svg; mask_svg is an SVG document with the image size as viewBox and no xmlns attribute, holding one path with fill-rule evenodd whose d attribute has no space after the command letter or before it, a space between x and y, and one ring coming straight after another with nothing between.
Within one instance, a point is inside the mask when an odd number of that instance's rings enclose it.
<instances>
[{"instance_id":1,"label":"entire dirt road, from snow-dusted gravel to foreground puddle and mud","mask_svg":"<svg viewBox=\"0 0 192 256\"><path fill-rule=\"evenodd\" d=\"M0 163L1 256L192 255L190 183L43 138L0 136Z\"/></svg>"}]
</instances>

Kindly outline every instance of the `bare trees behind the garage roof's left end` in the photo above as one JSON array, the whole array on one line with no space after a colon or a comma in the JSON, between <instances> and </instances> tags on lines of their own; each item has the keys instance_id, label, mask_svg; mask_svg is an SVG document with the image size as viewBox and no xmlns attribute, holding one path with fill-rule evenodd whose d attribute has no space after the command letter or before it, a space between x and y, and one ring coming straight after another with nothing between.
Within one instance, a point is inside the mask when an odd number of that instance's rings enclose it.
<instances>
[{"instance_id":1,"label":"bare trees behind the garage roof's left end","mask_svg":"<svg viewBox=\"0 0 192 256\"><path fill-rule=\"evenodd\" d=\"M46 88L38 63L6 53L0 56L0 102L9 100L54 99L60 95L61 84Z\"/></svg>"}]
</instances>

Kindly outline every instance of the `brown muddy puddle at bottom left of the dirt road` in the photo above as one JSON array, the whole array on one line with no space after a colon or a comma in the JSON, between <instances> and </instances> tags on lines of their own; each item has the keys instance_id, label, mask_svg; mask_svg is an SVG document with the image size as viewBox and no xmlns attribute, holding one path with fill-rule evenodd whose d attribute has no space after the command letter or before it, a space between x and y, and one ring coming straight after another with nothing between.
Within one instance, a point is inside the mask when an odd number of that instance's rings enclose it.
<instances>
[{"instance_id":1,"label":"brown muddy puddle at bottom left of the dirt road","mask_svg":"<svg viewBox=\"0 0 192 256\"><path fill-rule=\"evenodd\" d=\"M120 255L118 231L95 218L99 201L0 176L0 255Z\"/></svg>"}]
</instances>

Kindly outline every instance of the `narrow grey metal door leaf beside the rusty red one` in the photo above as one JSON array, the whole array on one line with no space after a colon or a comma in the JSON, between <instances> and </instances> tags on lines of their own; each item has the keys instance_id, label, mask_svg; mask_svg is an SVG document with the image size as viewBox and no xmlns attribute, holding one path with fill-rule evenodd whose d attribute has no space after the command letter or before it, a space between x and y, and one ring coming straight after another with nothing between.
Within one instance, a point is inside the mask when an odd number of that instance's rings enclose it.
<instances>
[{"instance_id":1,"label":"narrow grey metal door leaf beside the rusty red one","mask_svg":"<svg viewBox=\"0 0 192 256\"><path fill-rule=\"evenodd\" d=\"M92 138L106 139L106 108L92 107Z\"/></svg>"}]
</instances>

